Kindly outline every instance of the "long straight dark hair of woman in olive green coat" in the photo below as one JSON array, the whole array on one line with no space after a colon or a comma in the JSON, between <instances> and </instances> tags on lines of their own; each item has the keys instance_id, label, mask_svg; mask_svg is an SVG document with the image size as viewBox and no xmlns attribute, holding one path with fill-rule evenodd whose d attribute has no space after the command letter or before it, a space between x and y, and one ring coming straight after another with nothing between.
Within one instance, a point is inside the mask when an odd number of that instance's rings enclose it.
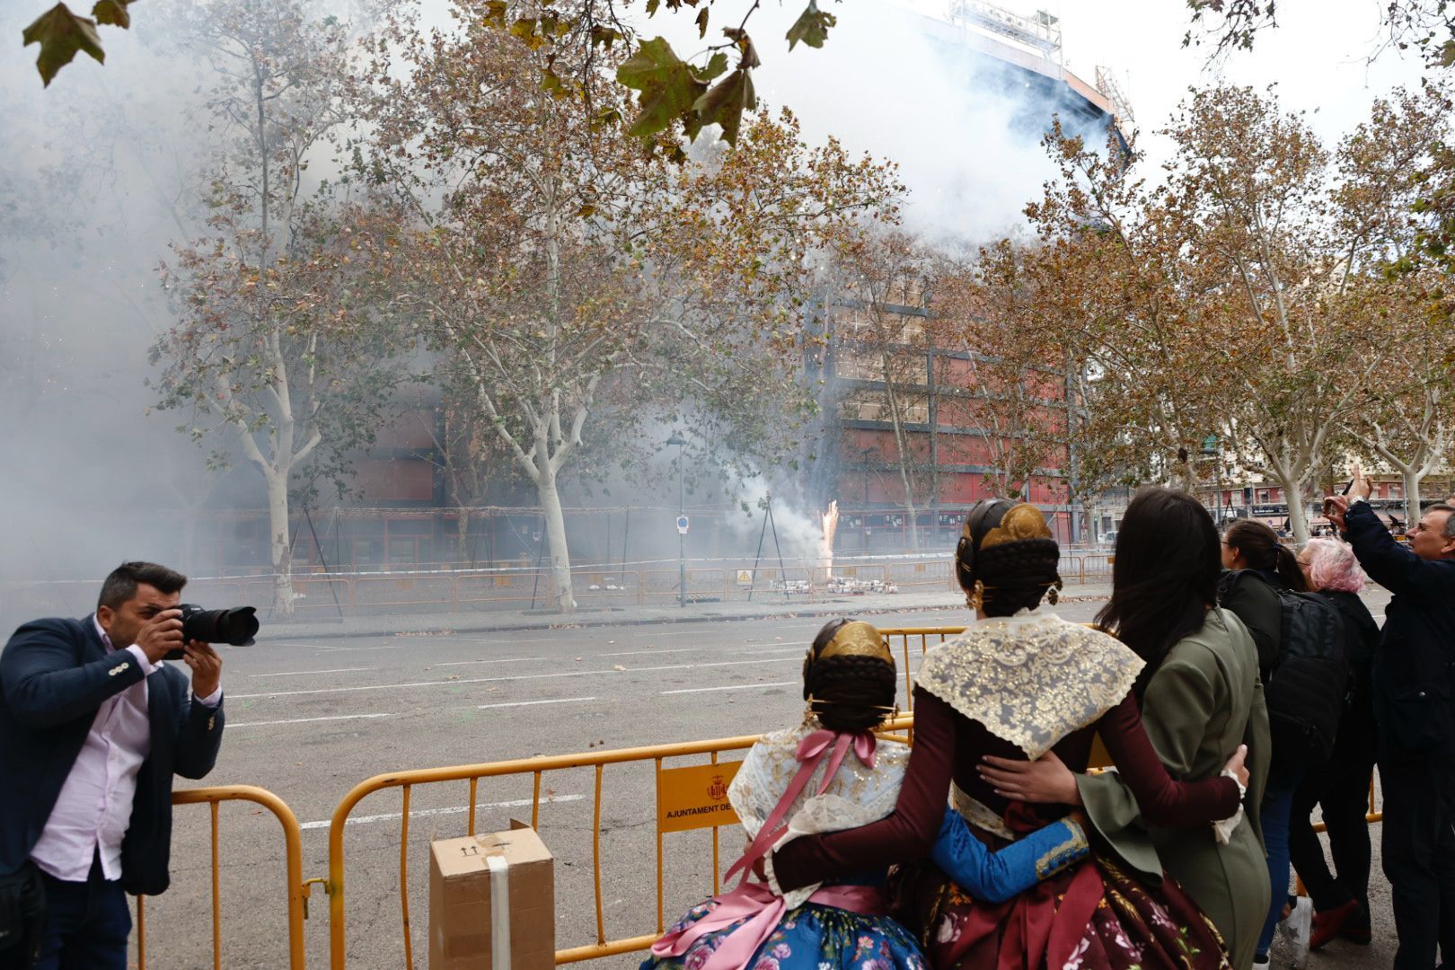
<instances>
[{"instance_id":1,"label":"long straight dark hair of woman in olive green coat","mask_svg":"<svg viewBox=\"0 0 1455 970\"><path fill-rule=\"evenodd\" d=\"M1202 628L1218 602L1218 526L1197 499L1144 489L1116 534L1112 599L1096 621L1147 662L1136 691L1174 643Z\"/></svg>"}]
</instances>

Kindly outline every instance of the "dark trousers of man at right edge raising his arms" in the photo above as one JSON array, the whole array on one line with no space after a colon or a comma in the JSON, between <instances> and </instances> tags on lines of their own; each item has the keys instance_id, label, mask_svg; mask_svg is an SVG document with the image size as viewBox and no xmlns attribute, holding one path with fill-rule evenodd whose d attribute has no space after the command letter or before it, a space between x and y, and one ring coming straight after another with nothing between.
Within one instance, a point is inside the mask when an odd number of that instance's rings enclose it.
<instances>
[{"instance_id":1,"label":"dark trousers of man at right edge raising his arms","mask_svg":"<svg viewBox=\"0 0 1455 970\"><path fill-rule=\"evenodd\" d=\"M1455 759L1381 758L1384 874L1400 934L1395 970L1455 964Z\"/></svg>"}]
</instances>

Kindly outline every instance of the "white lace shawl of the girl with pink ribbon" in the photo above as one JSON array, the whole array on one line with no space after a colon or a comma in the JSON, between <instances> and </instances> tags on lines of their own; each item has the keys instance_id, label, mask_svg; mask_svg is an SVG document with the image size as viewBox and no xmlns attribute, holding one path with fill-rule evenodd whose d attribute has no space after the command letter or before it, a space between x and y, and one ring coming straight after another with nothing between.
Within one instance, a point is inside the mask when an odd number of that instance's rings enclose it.
<instances>
[{"instance_id":1,"label":"white lace shawl of the girl with pink ribbon","mask_svg":"<svg viewBox=\"0 0 1455 970\"><path fill-rule=\"evenodd\" d=\"M805 727L774 731L765 734L748 750L742 768L738 769L732 785L728 787L728 800L738 813L749 842L757 838L762 823L773 813L778 798L787 791L789 782L799 771L796 758L799 742L816 730L819 730L819 724L812 721ZM842 832L888 817L895 810L895 801L899 800L899 784L904 781L905 766L909 763L909 747L895 742L879 742L873 768L866 768L850 749L838 771L834 772L828 790L822 795L815 795L828 762L829 756L825 755L824 761L813 769L813 777L809 778L803 791L793 800L786 816L789 830L777 841L774 849L800 835ZM777 890L771 857L764 857L764 867L768 881ZM783 899L789 909L793 909L806 902L821 884L813 883L783 893Z\"/></svg>"}]
</instances>

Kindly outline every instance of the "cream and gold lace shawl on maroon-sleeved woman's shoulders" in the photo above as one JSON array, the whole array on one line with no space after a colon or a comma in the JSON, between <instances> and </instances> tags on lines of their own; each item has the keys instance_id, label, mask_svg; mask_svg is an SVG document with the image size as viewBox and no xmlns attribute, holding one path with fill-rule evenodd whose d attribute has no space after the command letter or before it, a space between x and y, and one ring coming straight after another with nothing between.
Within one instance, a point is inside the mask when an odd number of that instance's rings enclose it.
<instances>
[{"instance_id":1,"label":"cream and gold lace shawl on maroon-sleeved woman's shoulders","mask_svg":"<svg viewBox=\"0 0 1455 970\"><path fill-rule=\"evenodd\" d=\"M1021 611L930 650L915 682L1036 759L1120 704L1141 669L1116 637Z\"/></svg>"}]
</instances>

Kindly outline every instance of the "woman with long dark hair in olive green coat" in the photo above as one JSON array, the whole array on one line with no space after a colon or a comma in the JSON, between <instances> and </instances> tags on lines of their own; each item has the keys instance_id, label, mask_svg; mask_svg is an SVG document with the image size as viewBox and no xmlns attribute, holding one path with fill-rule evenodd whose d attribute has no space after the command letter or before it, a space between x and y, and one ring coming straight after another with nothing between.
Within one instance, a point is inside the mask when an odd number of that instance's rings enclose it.
<instances>
[{"instance_id":1,"label":"woman with long dark hair in olive green coat","mask_svg":"<svg viewBox=\"0 0 1455 970\"><path fill-rule=\"evenodd\" d=\"M1247 745L1238 816L1211 826L1148 827L1115 772L1072 777L1059 762L997 761L984 774L1026 801L1080 801L1144 878L1165 870L1181 884L1222 934L1232 966L1247 970L1272 894L1257 819L1269 723L1253 637L1215 605L1219 569L1218 532L1202 503L1180 492L1145 490L1122 519L1112 599L1097 621L1147 660L1135 691L1147 734L1173 778L1216 777L1228 753Z\"/></svg>"}]
</instances>

